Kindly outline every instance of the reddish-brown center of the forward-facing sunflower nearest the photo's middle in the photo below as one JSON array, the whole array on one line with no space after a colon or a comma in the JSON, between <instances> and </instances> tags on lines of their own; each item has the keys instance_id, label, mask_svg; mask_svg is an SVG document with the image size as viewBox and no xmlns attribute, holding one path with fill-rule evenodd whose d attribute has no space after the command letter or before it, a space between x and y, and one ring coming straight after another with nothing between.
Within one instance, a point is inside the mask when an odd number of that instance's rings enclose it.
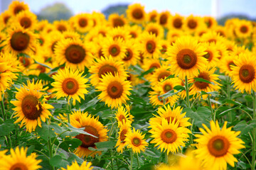
<instances>
[{"instance_id":1,"label":"reddish-brown center of the forward-facing sunflower nearest the photo's middle","mask_svg":"<svg viewBox=\"0 0 256 170\"><path fill-rule=\"evenodd\" d=\"M110 96L110 98L119 98L120 96L122 96L123 91L123 86L118 81L112 81L107 86L107 94Z\"/></svg>"}]
</instances>

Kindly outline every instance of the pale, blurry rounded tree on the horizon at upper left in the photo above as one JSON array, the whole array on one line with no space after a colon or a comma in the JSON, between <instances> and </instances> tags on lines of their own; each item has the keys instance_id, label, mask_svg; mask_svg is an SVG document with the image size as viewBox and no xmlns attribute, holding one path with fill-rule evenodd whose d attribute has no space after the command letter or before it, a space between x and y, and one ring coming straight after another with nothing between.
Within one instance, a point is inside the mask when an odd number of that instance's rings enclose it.
<instances>
[{"instance_id":1,"label":"pale, blurry rounded tree on the horizon at upper left","mask_svg":"<svg viewBox=\"0 0 256 170\"><path fill-rule=\"evenodd\" d=\"M47 19L49 22L55 20L68 20L71 16L73 16L73 12L62 3L46 6L38 13L39 20Z\"/></svg>"}]
</instances>

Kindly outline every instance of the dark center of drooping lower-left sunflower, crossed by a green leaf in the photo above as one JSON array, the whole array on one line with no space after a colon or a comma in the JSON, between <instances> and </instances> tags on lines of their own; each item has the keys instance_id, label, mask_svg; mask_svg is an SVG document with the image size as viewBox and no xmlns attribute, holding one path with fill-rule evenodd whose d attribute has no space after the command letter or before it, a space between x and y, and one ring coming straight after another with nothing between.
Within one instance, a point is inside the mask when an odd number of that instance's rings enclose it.
<instances>
[{"instance_id":1,"label":"dark center of drooping lower-left sunflower, crossed by a green leaf","mask_svg":"<svg viewBox=\"0 0 256 170\"><path fill-rule=\"evenodd\" d=\"M92 127L91 125L85 125L83 128L85 128L85 132L90 133L90 135L94 135L95 137L85 134L76 135L75 138L82 141L82 145L80 146L85 148L95 147L95 143L100 141L99 132L97 132L97 129Z\"/></svg>"}]
</instances>

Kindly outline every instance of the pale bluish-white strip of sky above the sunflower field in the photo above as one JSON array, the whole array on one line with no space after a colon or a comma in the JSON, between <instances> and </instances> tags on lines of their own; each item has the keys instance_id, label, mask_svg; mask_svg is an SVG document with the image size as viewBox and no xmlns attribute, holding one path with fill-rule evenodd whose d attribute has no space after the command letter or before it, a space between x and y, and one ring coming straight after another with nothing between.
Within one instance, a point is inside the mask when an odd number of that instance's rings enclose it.
<instances>
[{"instance_id":1,"label":"pale bluish-white strip of sky above the sunflower field","mask_svg":"<svg viewBox=\"0 0 256 170\"><path fill-rule=\"evenodd\" d=\"M38 13L41 8L60 2L65 4L74 14L81 12L103 11L112 4L140 3L145 6L145 11L170 11L171 14L179 13L183 16L190 14L196 16L225 16L240 13L250 18L256 18L256 0L23 0ZM213 10L213 1L218 1L218 8ZM213 12L215 11L215 12ZM217 13L216 13L217 11Z\"/></svg>"}]
</instances>

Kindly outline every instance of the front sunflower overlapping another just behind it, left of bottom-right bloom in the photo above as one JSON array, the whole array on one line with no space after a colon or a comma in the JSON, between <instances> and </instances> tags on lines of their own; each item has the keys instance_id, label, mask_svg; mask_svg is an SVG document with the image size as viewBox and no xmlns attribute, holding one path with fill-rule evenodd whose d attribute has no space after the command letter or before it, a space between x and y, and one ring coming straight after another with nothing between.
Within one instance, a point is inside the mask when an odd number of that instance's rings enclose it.
<instances>
[{"instance_id":1,"label":"front sunflower overlapping another just behind it, left of bottom-right bloom","mask_svg":"<svg viewBox=\"0 0 256 170\"><path fill-rule=\"evenodd\" d=\"M161 124L151 125L152 130L151 137L154 139L151 140L151 143L155 143L155 147L159 146L158 149L161 149L161 152L176 153L181 147L185 147L185 142L188 141L188 130L184 127L178 127L179 122L168 123L166 119L161 120Z\"/></svg>"}]
</instances>

